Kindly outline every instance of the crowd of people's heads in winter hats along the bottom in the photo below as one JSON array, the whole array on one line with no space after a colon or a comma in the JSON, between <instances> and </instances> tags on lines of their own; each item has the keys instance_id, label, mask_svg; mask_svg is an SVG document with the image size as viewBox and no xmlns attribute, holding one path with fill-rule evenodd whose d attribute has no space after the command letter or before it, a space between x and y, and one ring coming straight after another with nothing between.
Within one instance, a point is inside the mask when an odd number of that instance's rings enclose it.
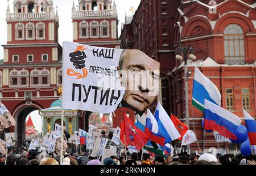
<instances>
[{"instance_id":1,"label":"crowd of people's heads in winter hats along the bottom","mask_svg":"<svg viewBox=\"0 0 256 176\"><path fill-rule=\"evenodd\" d=\"M127 156L127 158L126 158ZM103 161L97 157L91 157L88 153L64 154L63 165L256 165L256 156L251 154L220 154L216 156L209 153L188 154L187 152L174 154L174 156L158 156L150 153L143 154L140 160L140 153L122 153L121 156L110 156ZM60 165L60 155L47 153L45 149L27 151L22 148L17 152L15 148L10 149L7 157L0 153L0 165Z\"/></svg>"}]
</instances>

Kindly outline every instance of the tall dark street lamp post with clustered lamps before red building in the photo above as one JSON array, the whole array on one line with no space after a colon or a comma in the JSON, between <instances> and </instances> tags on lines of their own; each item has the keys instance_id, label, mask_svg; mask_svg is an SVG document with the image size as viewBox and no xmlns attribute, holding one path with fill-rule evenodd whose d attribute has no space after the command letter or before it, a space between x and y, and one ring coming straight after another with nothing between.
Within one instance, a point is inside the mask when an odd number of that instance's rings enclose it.
<instances>
[{"instance_id":1,"label":"tall dark street lamp post with clustered lamps before red building","mask_svg":"<svg viewBox=\"0 0 256 176\"><path fill-rule=\"evenodd\" d=\"M182 57L182 54L184 57ZM184 75L185 75L185 119L186 119L186 124L189 129L189 114L188 114L188 76L190 73L188 73L188 68L187 68L187 63L188 63L188 58L189 59L196 59L195 56L195 51L192 48L192 46L188 47L179 47L176 49L176 59L179 61L183 61L184 59ZM187 150L189 150L190 147L187 145Z\"/></svg>"}]
</instances>

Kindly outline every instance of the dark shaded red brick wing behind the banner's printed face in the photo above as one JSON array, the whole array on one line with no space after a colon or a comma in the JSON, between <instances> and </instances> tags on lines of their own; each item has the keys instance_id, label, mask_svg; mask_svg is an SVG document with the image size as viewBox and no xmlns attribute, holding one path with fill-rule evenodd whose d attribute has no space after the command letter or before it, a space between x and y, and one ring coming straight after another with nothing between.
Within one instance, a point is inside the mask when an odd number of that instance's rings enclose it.
<instances>
[{"instance_id":1,"label":"dark shaded red brick wing behind the banner's printed face","mask_svg":"<svg viewBox=\"0 0 256 176\"><path fill-rule=\"evenodd\" d=\"M179 5L180 1L176 0L142 0L131 22L130 16L126 16L120 36L122 48L142 50L160 62L162 77L175 67L173 33ZM170 111L166 80L162 81L161 91L159 99Z\"/></svg>"}]
</instances>

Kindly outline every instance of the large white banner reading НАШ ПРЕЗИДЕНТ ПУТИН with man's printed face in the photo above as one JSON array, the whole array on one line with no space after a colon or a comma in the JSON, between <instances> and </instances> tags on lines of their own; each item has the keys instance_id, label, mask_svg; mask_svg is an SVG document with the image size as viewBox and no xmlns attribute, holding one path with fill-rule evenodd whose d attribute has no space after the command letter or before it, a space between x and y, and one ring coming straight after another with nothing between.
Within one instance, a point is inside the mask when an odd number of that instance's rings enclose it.
<instances>
[{"instance_id":1,"label":"large white banner reading \u041d\u0410\u0428 \u041f\u0420\u0415\u0417\u0418\u0414\u0415\u041d\u0422 \u041f\u0423\u0422\u0418\u041d with man's printed face","mask_svg":"<svg viewBox=\"0 0 256 176\"><path fill-rule=\"evenodd\" d=\"M142 115L159 92L160 63L140 50L63 42L63 108Z\"/></svg>"}]
</instances>

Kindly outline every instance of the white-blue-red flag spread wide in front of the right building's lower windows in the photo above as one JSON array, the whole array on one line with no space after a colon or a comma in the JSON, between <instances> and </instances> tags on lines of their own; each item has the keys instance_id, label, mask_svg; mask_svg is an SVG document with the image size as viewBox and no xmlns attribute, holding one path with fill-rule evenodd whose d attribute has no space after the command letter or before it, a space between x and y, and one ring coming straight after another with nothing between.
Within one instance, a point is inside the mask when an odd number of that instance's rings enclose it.
<instances>
[{"instance_id":1,"label":"white-blue-red flag spread wide in front of the right building's lower windows","mask_svg":"<svg viewBox=\"0 0 256 176\"><path fill-rule=\"evenodd\" d=\"M237 140L234 133L241 124L241 119L237 115L208 100L204 101L204 110L205 130L216 130L226 138Z\"/></svg>"}]
</instances>

